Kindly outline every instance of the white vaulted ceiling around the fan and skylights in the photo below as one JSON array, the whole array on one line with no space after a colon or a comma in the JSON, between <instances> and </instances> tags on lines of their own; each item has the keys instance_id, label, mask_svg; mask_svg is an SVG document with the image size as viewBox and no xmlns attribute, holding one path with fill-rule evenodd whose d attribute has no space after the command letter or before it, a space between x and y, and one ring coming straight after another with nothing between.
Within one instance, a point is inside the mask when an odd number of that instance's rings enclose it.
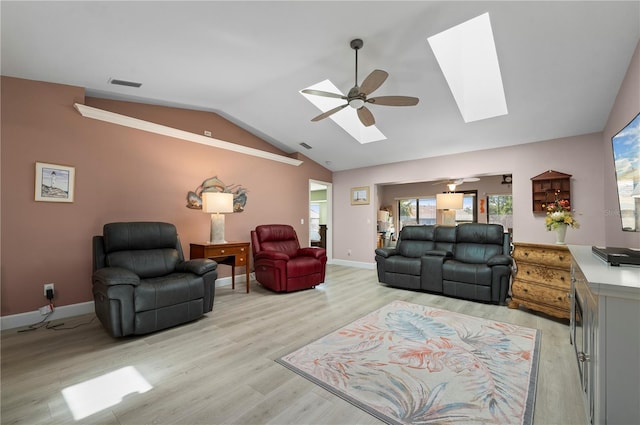
<instances>
[{"instance_id":1,"label":"white vaulted ceiling around the fan and skylights","mask_svg":"<svg viewBox=\"0 0 640 425\"><path fill-rule=\"evenodd\" d=\"M602 131L640 38L639 1L0 3L2 75L87 95L213 111L339 171ZM509 114L465 124L427 38L489 12ZM389 72L360 144L299 90ZM135 89L109 79L142 83ZM346 108L340 113L353 113ZM215 129L210 129L215 137ZM229 140L233 142L233 140ZM302 148L301 142L312 146Z\"/></svg>"}]
</instances>

